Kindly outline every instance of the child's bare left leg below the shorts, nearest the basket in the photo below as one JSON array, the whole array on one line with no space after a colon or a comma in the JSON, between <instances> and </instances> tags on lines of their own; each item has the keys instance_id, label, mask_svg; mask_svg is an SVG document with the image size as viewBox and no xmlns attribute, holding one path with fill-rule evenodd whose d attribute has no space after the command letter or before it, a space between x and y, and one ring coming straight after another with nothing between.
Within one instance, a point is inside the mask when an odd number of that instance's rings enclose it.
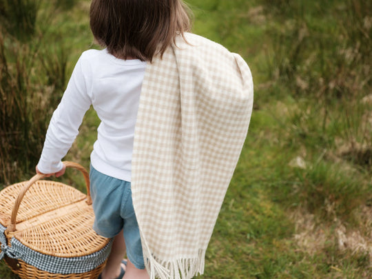
<instances>
[{"instance_id":1,"label":"child's bare left leg below the shorts, nearest the basket","mask_svg":"<svg viewBox=\"0 0 372 279\"><path fill-rule=\"evenodd\" d=\"M102 279L114 279L120 274L121 267L125 270L125 265L121 264L125 256L125 241L123 230L114 237L110 256L107 258L105 268L102 271Z\"/></svg>"}]
</instances>

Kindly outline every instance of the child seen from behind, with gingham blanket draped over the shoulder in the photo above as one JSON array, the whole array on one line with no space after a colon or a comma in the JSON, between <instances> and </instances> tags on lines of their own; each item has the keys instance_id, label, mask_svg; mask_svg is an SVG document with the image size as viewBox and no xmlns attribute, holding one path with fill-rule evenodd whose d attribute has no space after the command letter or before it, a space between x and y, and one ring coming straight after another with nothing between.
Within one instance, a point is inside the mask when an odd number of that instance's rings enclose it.
<instances>
[{"instance_id":1,"label":"child seen from behind, with gingham blanket draped over the shoulder","mask_svg":"<svg viewBox=\"0 0 372 279\"><path fill-rule=\"evenodd\" d=\"M65 172L61 158L93 105L94 230L114 238L99 278L192 278L247 133L249 68L187 33L181 0L93 0L90 27L105 49L76 63L37 172Z\"/></svg>"}]
</instances>

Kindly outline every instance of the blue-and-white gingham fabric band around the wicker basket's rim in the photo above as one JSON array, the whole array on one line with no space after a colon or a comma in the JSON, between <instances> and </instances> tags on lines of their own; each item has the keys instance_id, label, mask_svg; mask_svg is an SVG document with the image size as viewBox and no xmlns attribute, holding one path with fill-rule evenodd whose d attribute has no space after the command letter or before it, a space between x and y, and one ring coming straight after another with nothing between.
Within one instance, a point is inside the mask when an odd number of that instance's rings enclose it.
<instances>
[{"instance_id":1,"label":"blue-and-white gingham fabric band around the wicker basket's rim","mask_svg":"<svg viewBox=\"0 0 372 279\"><path fill-rule=\"evenodd\" d=\"M37 269L48 271L50 273L70 274L70 273L85 273L92 271L101 265L110 254L112 241L110 241L103 249L87 256L74 258L61 258L50 255L41 254L23 245L16 238L10 240L11 247L6 245L6 237L4 236L6 227L0 225L0 242L1 253L0 260L7 255L10 258L23 260L28 265L32 265Z\"/></svg>"}]
</instances>

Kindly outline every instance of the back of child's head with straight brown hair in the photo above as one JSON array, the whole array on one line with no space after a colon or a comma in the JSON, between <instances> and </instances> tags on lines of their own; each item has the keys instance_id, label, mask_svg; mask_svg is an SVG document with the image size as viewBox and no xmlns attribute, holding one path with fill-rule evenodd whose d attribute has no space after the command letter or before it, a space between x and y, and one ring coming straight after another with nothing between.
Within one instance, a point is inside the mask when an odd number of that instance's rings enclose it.
<instances>
[{"instance_id":1,"label":"back of child's head with straight brown hair","mask_svg":"<svg viewBox=\"0 0 372 279\"><path fill-rule=\"evenodd\" d=\"M190 21L182 0L92 0L90 28L114 56L152 61Z\"/></svg>"}]
</instances>

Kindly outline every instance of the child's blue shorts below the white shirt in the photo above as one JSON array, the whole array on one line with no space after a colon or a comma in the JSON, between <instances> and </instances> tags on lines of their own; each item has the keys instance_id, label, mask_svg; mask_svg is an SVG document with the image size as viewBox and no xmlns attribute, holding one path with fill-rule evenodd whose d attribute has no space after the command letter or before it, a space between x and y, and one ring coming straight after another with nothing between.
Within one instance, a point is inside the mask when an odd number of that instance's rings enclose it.
<instances>
[{"instance_id":1,"label":"child's blue shorts below the white shirt","mask_svg":"<svg viewBox=\"0 0 372 279\"><path fill-rule=\"evenodd\" d=\"M102 174L90 166L90 194L97 234L113 238L123 229L127 258L144 269L141 237L132 203L130 182Z\"/></svg>"}]
</instances>

